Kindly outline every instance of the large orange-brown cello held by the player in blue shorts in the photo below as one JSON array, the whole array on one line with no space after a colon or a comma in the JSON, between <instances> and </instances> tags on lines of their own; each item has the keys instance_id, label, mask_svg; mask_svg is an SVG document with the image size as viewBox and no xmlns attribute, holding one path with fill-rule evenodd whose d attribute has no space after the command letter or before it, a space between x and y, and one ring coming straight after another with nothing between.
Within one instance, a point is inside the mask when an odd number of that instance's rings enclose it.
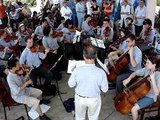
<instances>
[{"instance_id":1,"label":"large orange-brown cello held by the player in blue shorts","mask_svg":"<svg viewBox=\"0 0 160 120\"><path fill-rule=\"evenodd\" d=\"M137 79L135 83L116 96L114 105L118 112L122 114L129 113L137 100L147 95L151 88L147 79L149 76L150 74L142 79Z\"/></svg>"}]
</instances>

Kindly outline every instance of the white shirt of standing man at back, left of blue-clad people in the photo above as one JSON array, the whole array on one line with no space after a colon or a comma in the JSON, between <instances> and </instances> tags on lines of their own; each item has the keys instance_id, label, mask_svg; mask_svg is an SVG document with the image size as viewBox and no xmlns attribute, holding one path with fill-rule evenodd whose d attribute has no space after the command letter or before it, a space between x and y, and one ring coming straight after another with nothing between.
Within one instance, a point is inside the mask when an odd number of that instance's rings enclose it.
<instances>
[{"instance_id":1,"label":"white shirt of standing man at back, left of blue-clad people","mask_svg":"<svg viewBox=\"0 0 160 120\"><path fill-rule=\"evenodd\" d=\"M69 7L62 7L61 8L61 15L62 15L62 17L64 17L65 18L65 20L67 20L67 19L70 19L71 20L71 15L72 15L72 11L71 11L71 9L69 8ZM66 16L66 14L70 14L70 16Z\"/></svg>"}]
</instances>

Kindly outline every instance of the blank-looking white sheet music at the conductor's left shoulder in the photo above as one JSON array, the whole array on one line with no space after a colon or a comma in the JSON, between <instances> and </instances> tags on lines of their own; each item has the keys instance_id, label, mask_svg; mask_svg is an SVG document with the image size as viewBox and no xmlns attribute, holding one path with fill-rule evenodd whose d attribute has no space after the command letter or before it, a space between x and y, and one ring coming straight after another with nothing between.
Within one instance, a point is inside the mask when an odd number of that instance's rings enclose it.
<instances>
[{"instance_id":1,"label":"blank-looking white sheet music at the conductor's left shoulder","mask_svg":"<svg viewBox=\"0 0 160 120\"><path fill-rule=\"evenodd\" d=\"M85 61L84 60L79 60L79 61L77 61L77 60L69 60L67 73L72 73L73 70L76 67L83 66L83 65L85 65Z\"/></svg>"}]
</instances>

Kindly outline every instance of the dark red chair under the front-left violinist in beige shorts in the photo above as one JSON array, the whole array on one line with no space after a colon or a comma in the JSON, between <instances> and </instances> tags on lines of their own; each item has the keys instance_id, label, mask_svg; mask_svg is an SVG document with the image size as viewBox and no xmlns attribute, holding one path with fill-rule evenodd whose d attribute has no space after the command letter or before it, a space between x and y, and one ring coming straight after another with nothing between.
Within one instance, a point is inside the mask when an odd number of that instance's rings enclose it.
<instances>
[{"instance_id":1,"label":"dark red chair under the front-left violinist in beige shorts","mask_svg":"<svg viewBox=\"0 0 160 120\"><path fill-rule=\"evenodd\" d=\"M17 103L12 99L10 91L6 90L2 80L0 80L0 101L2 102L2 105L3 105L5 120L7 120L6 107L18 106L18 105L24 105L28 120L30 120L28 111L27 111L27 106L25 104Z\"/></svg>"}]
</instances>

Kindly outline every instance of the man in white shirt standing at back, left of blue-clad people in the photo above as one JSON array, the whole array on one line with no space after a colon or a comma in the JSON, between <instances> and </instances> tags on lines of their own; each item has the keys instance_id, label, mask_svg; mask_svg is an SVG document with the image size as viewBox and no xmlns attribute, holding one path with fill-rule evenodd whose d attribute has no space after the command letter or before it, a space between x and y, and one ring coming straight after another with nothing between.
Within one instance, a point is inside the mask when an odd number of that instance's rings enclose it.
<instances>
[{"instance_id":1,"label":"man in white shirt standing at back, left of blue-clad people","mask_svg":"<svg viewBox=\"0 0 160 120\"><path fill-rule=\"evenodd\" d=\"M67 6L67 2L63 3L63 7L60 10L62 17L65 18L65 20L70 19L71 20L71 15L72 11L71 9Z\"/></svg>"}]
</instances>

